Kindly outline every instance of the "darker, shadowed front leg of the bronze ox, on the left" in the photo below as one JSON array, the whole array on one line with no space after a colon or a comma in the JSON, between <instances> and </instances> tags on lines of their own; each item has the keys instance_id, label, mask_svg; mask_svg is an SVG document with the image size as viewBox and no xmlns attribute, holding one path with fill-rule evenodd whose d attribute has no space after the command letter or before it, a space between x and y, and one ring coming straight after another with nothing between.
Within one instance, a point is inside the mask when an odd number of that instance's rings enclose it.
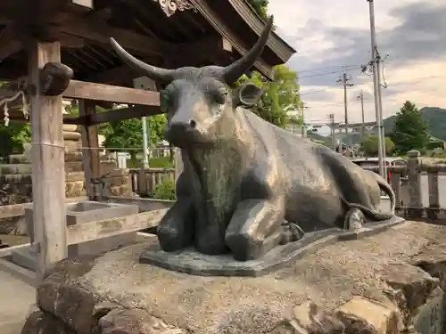
<instances>
[{"instance_id":1,"label":"darker, shadowed front leg of the bronze ox, on the left","mask_svg":"<svg viewBox=\"0 0 446 334\"><path fill-rule=\"evenodd\" d=\"M186 177L178 177L177 201L161 218L156 234L163 250L170 252L186 248L194 240L194 200L187 191Z\"/></svg>"}]
</instances>

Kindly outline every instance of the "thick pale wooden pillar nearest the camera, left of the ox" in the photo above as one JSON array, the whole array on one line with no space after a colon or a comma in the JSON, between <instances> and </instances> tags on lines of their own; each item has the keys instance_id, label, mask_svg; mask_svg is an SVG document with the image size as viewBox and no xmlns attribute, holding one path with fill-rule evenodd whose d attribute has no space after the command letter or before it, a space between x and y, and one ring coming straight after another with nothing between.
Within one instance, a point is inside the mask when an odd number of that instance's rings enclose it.
<instances>
[{"instance_id":1,"label":"thick pale wooden pillar nearest the camera, left of the ox","mask_svg":"<svg viewBox=\"0 0 446 334\"><path fill-rule=\"evenodd\" d=\"M31 98L33 223L37 250L37 283L45 269L67 257L65 165L62 96L39 94L39 69L61 61L61 45L33 43L29 48L29 79L37 87Z\"/></svg>"}]
</instances>

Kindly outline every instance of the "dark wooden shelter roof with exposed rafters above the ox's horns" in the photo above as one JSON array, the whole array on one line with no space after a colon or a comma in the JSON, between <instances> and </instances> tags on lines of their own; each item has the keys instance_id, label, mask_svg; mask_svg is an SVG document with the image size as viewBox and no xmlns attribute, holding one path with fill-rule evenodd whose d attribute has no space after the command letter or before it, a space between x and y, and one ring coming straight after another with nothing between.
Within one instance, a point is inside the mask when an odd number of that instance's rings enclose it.
<instances>
[{"instance_id":1,"label":"dark wooden shelter roof with exposed rafters above the ox's horns","mask_svg":"<svg viewBox=\"0 0 446 334\"><path fill-rule=\"evenodd\" d=\"M31 32L61 41L62 62L74 70L75 79L130 86L134 73L111 51L110 37L156 66L224 66L244 54L264 26L244 0L176 0L174 12L157 0L94 0L93 10L72 2L79 0L0 2L1 79L26 75ZM273 33L255 67L272 77L272 67L293 53Z\"/></svg>"}]
</instances>

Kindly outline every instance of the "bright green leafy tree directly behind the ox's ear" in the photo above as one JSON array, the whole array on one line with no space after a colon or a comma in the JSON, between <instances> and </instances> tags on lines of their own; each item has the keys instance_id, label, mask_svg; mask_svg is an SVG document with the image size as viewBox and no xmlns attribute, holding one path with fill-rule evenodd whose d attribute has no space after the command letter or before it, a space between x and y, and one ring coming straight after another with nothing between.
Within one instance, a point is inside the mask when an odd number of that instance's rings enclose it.
<instances>
[{"instance_id":1,"label":"bright green leafy tree directly behind the ox's ear","mask_svg":"<svg viewBox=\"0 0 446 334\"><path fill-rule=\"evenodd\" d=\"M252 111L276 126L285 127L290 121L301 123L299 117L288 115L288 111L301 110L303 107L297 78L297 73L283 64L274 68L274 81L268 82L259 72L254 72L252 77L241 77L238 83L248 81L262 87L264 93Z\"/></svg>"}]
</instances>

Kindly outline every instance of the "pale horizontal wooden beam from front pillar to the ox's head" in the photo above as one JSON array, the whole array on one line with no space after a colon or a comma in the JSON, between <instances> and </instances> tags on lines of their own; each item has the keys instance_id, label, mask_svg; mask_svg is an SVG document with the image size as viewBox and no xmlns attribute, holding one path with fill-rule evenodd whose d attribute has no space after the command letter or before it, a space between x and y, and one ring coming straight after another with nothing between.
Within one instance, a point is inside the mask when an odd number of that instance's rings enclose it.
<instances>
[{"instance_id":1,"label":"pale horizontal wooden beam from front pillar to the ox's head","mask_svg":"<svg viewBox=\"0 0 446 334\"><path fill-rule=\"evenodd\" d=\"M91 82L71 80L70 85L62 93L70 99L85 99L94 101L108 101L114 103L141 104L159 106L160 94L120 86L109 86Z\"/></svg>"}]
</instances>

